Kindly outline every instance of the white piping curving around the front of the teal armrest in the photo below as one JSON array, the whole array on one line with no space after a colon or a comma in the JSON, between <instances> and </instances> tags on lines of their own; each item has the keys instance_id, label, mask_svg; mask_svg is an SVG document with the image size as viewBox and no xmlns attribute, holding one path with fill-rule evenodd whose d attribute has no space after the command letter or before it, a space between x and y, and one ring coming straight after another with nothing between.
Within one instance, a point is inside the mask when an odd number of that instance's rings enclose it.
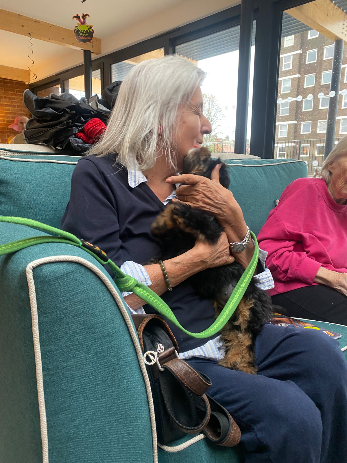
<instances>
[{"instance_id":1,"label":"white piping curving around the front of the teal armrest","mask_svg":"<svg viewBox=\"0 0 347 463\"><path fill-rule=\"evenodd\" d=\"M146 367L143 362L143 353L141 350L140 343L137 338L136 331L134 326L130 320L130 316L124 307L124 304L113 287L110 280L107 278L106 275L102 273L100 269L98 269L95 265L83 259L82 257L77 256L51 256L51 257L43 257L42 259L37 259L29 263L26 267L26 278L28 282L28 289L29 289L29 298L30 298L30 307L31 307L31 323L32 323L32 335L33 335L33 342L34 342L34 352L35 352L35 364L36 364L36 378L37 378L37 395L38 395L38 407L39 407L39 414L40 414L40 425L41 425L41 440L42 440L42 461L43 463L49 463L48 460L48 434L47 434L47 417L46 417L46 407L44 402L44 388L43 388L43 374L42 374L42 359L41 359L41 349L40 349L40 337L39 337L39 328L38 328L38 318L37 318L37 300L36 300L36 292L35 292L35 284L34 284L34 277L32 270L35 269L37 266L45 264L45 263L53 263L53 262L75 262L84 265L88 269L92 270L95 275L99 276L100 280L105 284L106 288L112 294L116 304L123 315L125 323L128 327L130 332L131 339L134 343L136 355L138 358L138 362L140 364L140 368L143 374L143 379L146 386L147 398L149 403L149 414L152 426L152 438L153 438L153 463L158 463L158 450L157 450L157 436L156 436L156 428L155 428L155 415L154 415L154 405L152 399L152 392L151 387L149 384L149 377L147 375ZM193 439L192 439L193 440ZM183 444L182 444L183 445ZM179 447L179 446L178 446ZM176 450L177 451L177 450Z\"/></svg>"}]
</instances>

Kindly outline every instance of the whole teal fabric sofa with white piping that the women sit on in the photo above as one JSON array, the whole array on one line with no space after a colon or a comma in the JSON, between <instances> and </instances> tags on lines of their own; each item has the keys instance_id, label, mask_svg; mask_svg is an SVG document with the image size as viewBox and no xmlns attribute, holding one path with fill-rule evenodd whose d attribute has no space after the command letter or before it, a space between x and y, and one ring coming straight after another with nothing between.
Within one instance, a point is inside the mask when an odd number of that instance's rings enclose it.
<instances>
[{"instance_id":1,"label":"whole teal fabric sofa with white piping that the women sit on","mask_svg":"<svg viewBox=\"0 0 347 463\"><path fill-rule=\"evenodd\" d=\"M77 161L0 148L0 214L59 227ZM300 161L228 163L255 233L283 189L307 175ZM39 234L0 223L1 244ZM0 256L0 371L1 463L243 461L240 446L217 447L202 434L157 446L128 309L110 275L75 246L38 244Z\"/></svg>"}]
</instances>

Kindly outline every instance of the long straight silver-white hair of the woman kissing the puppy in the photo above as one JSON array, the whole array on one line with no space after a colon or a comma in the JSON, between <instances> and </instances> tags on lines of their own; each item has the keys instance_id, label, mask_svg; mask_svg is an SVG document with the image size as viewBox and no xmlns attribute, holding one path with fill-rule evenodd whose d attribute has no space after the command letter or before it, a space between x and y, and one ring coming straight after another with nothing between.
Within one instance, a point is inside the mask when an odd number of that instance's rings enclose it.
<instances>
[{"instance_id":1,"label":"long straight silver-white hair of the woman kissing the puppy","mask_svg":"<svg viewBox=\"0 0 347 463\"><path fill-rule=\"evenodd\" d=\"M177 116L205 73L186 58L169 55L136 64L119 89L107 128L88 154L117 153L127 168L150 169L163 152L176 168Z\"/></svg>"}]
</instances>

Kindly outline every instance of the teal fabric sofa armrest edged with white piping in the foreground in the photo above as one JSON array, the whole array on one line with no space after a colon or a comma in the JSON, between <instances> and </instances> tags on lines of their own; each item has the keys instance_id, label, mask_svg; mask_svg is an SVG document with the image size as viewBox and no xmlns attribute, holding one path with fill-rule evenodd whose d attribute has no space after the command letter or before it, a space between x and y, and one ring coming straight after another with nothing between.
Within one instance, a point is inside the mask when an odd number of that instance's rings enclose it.
<instances>
[{"instance_id":1,"label":"teal fabric sofa armrest edged with white piping in the foreground","mask_svg":"<svg viewBox=\"0 0 347 463\"><path fill-rule=\"evenodd\" d=\"M0 224L1 243L37 234L23 225ZM92 256L68 244L39 244L0 256L1 463L43 461L35 307L26 268L51 256L81 257L111 281ZM33 269L33 278L50 463L153 461L142 371L110 290L76 262L43 263Z\"/></svg>"}]
</instances>

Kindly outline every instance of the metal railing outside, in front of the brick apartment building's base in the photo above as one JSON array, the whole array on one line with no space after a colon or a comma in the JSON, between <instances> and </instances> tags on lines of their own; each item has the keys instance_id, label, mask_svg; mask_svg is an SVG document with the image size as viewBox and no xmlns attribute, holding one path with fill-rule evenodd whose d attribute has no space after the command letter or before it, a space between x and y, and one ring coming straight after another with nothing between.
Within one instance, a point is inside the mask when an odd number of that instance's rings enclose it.
<instances>
[{"instance_id":1,"label":"metal railing outside, in front of the brick apartment building's base","mask_svg":"<svg viewBox=\"0 0 347 463\"><path fill-rule=\"evenodd\" d=\"M335 138L335 144L341 138ZM315 173L315 167L321 167L324 162L325 138L314 138L311 140L290 140L275 143L275 159L300 159L307 163L308 174ZM318 164L312 165L316 161ZM315 163L316 164L316 163Z\"/></svg>"}]
</instances>

